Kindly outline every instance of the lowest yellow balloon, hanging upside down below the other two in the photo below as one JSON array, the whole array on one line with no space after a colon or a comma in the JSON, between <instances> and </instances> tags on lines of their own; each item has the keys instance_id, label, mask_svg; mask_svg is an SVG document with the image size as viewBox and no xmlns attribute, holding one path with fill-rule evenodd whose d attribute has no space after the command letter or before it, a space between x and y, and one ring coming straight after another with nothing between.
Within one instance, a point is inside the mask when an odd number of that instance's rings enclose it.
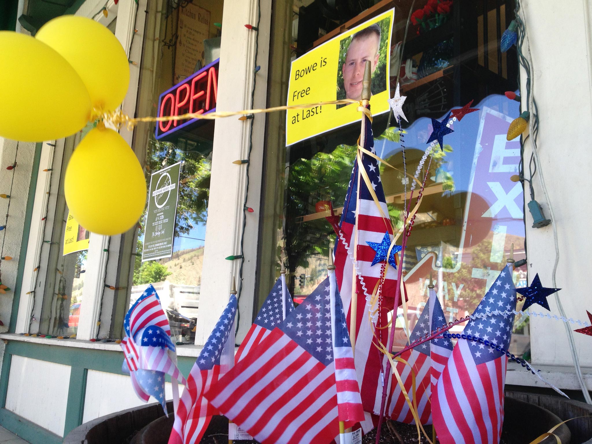
<instances>
[{"instance_id":1,"label":"lowest yellow balloon, hanging upside down below the other two","mask_svg":"<svg viewBox=\"0 0 592 444\"><path fill-rule=\"evenodd\" d=\"M123 137L99 124L74 150L64 192L79 224L112 236L129 230L140 218L146 204L146 179Z\"/></svg>"}]
</instances>

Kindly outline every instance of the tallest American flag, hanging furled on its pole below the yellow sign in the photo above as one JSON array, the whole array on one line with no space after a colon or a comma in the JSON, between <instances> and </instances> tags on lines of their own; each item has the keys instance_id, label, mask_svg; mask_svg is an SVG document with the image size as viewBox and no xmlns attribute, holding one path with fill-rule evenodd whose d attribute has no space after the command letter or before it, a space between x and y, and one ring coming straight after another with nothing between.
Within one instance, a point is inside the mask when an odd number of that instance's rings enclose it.
<instances>
[{"instance_id":1,"label":"tallest American flag, hanging furled on its pole below the yellow sign","mask_svg":"<svg viewBox=\"0 0 592 444\"><path fill-rule=\"evenodd\" d=\"M364 147L370 152L375 153L371 123L367 117L364 116L363 119L366 121ZM382 244L385 240L385 236L388 240L391 240L392 227L384 197L384 190L382 189L378 160L364 153L362 153L361 157L363 168L366 170L366 173L368 173L371 186L380 202L382 214L379 212L377 205L366 186L366 182L363 179L361 179L359 184L360 195L358 208L357 194L359 164L356 161L352 170L352 177L349 182L345 204L343 205L340 228L343 237L348 243L349 253L350 255L353 255L356 211L358 212L357 260L359 271L362 274L362 279L365 284L365 290L361 285L360 278L356 278L356 288L354 291L358 292L358 306L356 307L356 343L354 356L364 410L371 413L378 413L382 398L382 375L380 354L377 348L372 345L372 340L374 339L373 333L375 333L377 337L382 337L381 342L384 344L387 342L387 337L386 335L382 336L382 332L385 332L386 330L377 329L376 324L371 324L368 320L369 311L374 311L378 308L376 302L372 307L369 305L368 297L371 297L372 291L380 278L382 267L381 263L375 263L374 266L372 265L372 263L375 262L375 258L379 255L374 247L372 247L372 244L375 246L377 244ZM383 217L383 215L385 217ZM392 249L393 252L397 252L398 250L400 250L400 247L393 247ZM351 317L350 305L353 284L353 261L350 255L348 255L348 250L343 242L337 239L335 247L337 285L342 296L343 306L348 315L348 325ZM391 257L388 258L389 262L394 263L394 255L391 253L390 256ZM384 262L384 259L381 262ZM390 307L390 310L392 304L394 304L397 272L392 266L387 266L384 277L385 281L382 286L382 295L384 296L384 299L382 305L384 305L384 307ZM369 296L366 296L365 293ZM403 295L401 297L403 297ZM387 310L383 310L383 312L379 313L377 318L375 318L375 323L378 323L378 326L384 327L387 325L386 313ZM385 383L388 382L389 375L387 375Z\"/></svg>"}]
</instances>

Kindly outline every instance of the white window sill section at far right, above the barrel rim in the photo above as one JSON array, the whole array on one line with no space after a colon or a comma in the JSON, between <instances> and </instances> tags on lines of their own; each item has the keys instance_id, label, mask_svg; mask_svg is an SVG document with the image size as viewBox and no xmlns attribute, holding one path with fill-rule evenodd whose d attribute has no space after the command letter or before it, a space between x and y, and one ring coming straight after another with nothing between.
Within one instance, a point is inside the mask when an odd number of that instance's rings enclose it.
<instances>
[{"instance_id":1,"label":"white window sill section at far right, above the barrel rim","mask_svg":"<svg viewBox=\"0 0 592 444\"><path fill-rule=\"evenodd\" d=\"M580 390L575 369L572 366L559 365L534 365L540 370L540 375L549 381L550 384L562 390ZM582 368L584 381L588 390L592 390L592 368ZM509 362L506 373L506 384L523 385L526 387L549 387L526 368L516 362Z\"/></svg>"}]
</instances>

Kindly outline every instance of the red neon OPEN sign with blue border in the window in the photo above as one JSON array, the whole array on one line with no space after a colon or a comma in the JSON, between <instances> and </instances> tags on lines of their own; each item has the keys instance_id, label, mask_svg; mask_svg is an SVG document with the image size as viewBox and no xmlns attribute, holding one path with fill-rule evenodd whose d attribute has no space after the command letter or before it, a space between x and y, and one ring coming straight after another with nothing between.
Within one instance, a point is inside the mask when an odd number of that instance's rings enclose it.
<instances>
[{"instance_id":1,"label":"red neon OPEN sign with blue border in the window","mask_svg":"<svg viewBox=\"0 0 592 444\"><path fill-rule=\"evenodd\" d=\"M157 117L187 114L207 114L216 110L218 95L218 65L220 59L202 67L181 83L160 94ZM168 136L175 131L188 129L199 119L169 120L156 124L156 139Z\"/></svg>"}]
</instances>

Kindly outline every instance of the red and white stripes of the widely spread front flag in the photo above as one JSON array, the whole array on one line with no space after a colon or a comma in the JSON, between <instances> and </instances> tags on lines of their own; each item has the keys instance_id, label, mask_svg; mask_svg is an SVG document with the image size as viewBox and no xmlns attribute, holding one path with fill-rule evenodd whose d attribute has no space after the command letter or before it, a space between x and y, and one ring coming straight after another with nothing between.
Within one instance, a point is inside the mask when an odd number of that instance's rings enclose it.
<instances>
[{"instance_id":1,"label":"red and white stripes of the widely spread front flag","mask_svg":"<svg viewBox=\"0 0 592 444\"><path fill-rule=\"evenodd\" d=\"M339 434L333 362L323 365L278 328L205 397L263 444L322 444Z\"/></svg>"}]
</instances>

